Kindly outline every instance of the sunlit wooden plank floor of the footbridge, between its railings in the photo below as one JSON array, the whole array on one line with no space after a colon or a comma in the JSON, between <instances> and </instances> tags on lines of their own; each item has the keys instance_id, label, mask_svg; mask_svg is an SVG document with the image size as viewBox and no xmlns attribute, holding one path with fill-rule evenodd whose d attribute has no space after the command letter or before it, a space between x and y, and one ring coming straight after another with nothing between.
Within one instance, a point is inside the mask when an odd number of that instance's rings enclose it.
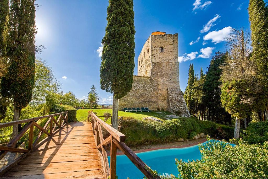
<instances>
[{"instance_id":1,"label":"sunlit wooden plank floor of the footbridge, between its railings","mask_svg":"<svg viewBox=\"0 0 268 179\"><path fill-rule=\"evenodd\" d=\"M92 127L69 123L1 178L104 178Z\"/></svg>"}]
</instances>

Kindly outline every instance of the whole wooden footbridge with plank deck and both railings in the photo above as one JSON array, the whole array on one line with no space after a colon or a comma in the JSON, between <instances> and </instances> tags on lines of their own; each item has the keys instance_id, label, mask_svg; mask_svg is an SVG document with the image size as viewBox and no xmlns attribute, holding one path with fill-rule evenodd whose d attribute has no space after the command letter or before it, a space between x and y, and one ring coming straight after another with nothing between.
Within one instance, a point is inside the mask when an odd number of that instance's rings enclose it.
<instances>
[{"instance_id":1,"label":"whole wooden footbridge with plank deck and both railings","mask_svg":"<svg viewBox=\"0 0 268 179\"><path fill-rule=\"evenodd\" d=\"M55 116L58 116L57 120ZM147 178L159 178L152 174L152 170L124 143L124 134L113 129L94 113L91 113L91 117L92 123L68 123L68 112L62 112L1 123L0 128L22 123L27 125L7 146L0 145L0 159L5 159L4 156L8 152L22 154L0 171L0 178L115 179L117 148L124 152ZM36 121L43 118L49 120L41 127ZM34 127L40 130L35 141ZM28 130L28 149L15 148L16 143ZM42 134L48 137L40 141ZM107 158L108 150L110 165Z\"/></svg>"}]
</instances>

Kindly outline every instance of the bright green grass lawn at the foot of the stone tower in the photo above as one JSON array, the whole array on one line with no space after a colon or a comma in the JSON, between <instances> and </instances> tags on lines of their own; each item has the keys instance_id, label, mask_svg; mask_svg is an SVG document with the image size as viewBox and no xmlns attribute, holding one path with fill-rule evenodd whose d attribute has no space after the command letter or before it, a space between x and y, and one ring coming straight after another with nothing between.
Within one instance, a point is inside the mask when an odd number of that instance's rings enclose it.
<instances>
[{"instance_id":1,"label":"bright green grass lawn at the foot of the stone tower","mask_svg":"<svg viewBox=\"0 0 268 179\"><path fill-rule=\"evenodd\" d=\"M88 111L93 111L97 113L97 116L103 116L105 112L109 112L112 114L112 109L78 109L76 111L76 119L78 121L85 121L87 120L87 112ZM118 111L118 116L123 116L123 117L133 117L135 119L143 119L145 117L153 116L158 119L166 120L165 117L166 115L170 115L172 113L168 111L161 111L162 114L156 113L157 111L152 111L152 112L124 112L124 111ZM100 119L103 119L104 117L100 117ZM111 124L111 118L109 118L106 121L108 124Z\"/></svg>"}]
</instances>

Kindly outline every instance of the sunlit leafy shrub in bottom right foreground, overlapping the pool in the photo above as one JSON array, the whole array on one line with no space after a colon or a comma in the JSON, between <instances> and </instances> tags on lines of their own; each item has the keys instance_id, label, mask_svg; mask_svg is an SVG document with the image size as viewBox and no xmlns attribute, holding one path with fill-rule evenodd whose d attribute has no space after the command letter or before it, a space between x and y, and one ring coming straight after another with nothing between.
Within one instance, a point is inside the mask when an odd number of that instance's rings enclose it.
<instances>
[{"instance_id":1,"label":"sunlit leafy shrub in bottom right foreground, overlapping the pool","mask_svg":"<svg viewBox=\"0 0 268 179\"><path fill-rule=\"evenodd\" d=\"M199 144L201 160L176 160L178 178L267 178L268 143L249 145L239 140L235 147L208 138ZM230 157L233 156L233 157Z\"/></svg>"}]
</instances>

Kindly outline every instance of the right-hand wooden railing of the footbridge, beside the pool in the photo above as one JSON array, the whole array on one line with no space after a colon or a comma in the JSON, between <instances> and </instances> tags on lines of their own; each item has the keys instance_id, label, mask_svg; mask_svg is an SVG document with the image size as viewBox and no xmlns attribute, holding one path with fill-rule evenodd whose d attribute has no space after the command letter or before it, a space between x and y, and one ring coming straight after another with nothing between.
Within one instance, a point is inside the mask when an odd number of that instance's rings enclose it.
<instances>
[{"instance_id":1,"label":"right-hand wooden railing of the footbridge, beside the pool","mask_svg":"<svg viewBox=\"0 0 268 179\"><path fill-rule=\"evenodd\" d=\"M148 167L125 143L126 136L117 131L103 120L98 118L93 112L91 112L91 122L96 147L98 150L98 156L101 160L102 169L105 174L105 178L116 178L116 153L119 148L131 162L148 178L160 179L159 176L154 175L150 167ZM108 137L104 139L102 130L106 130ZM108 144L110 146L110 166L108 163L107 152ZM129 176L131 177L131 176Z\"/></svg>"}]
</instances>

